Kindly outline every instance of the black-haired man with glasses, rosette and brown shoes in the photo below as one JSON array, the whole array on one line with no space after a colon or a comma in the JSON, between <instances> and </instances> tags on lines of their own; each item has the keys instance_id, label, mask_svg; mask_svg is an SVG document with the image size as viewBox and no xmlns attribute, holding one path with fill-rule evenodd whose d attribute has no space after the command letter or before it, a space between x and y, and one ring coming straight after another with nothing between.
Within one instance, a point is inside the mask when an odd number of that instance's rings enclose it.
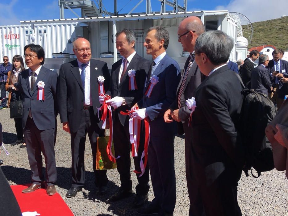
<instances>
[{"instance_id":1,"label":"black-haired man with glasses, rosette and brown shoes","mask_svg":"<svg viewBox=\"0 0 288 216\"><path fill-rule=\"evenodd\" d=\"M32 171L32 184L22 191L30 193L44 182L42 156L45 157L47 194L55 194L56 160L54 152L55 119L58 114L56 86L58 75L42 65L44 49L40 45L24 47L25 63L29 69L19 73L15 87L23 95L23 134L27 146L28 160Z\"/></svg>"}]
</instances>

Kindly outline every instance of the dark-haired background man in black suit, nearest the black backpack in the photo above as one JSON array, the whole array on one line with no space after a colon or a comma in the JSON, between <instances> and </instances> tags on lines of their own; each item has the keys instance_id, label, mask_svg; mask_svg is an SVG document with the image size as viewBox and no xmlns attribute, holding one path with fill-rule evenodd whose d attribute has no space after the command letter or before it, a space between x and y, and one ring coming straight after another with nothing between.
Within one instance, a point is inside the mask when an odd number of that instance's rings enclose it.
<instances>
[{"instance_id":1,"label":"dark-haired background man in black suit, nearest the black backpack","mask_svg":"<svg viewBox=\"0 0 288 216\"><path fill-rule=\"evenodd\" d=\"M242 66L242 81L245 86L249 85L249 81L251 80L251 73L254 67L254 61L256 61L260 56L260 53L254 49L250 52L249 57L244 60L244 64Z\"/></svg>"}]
</instances>

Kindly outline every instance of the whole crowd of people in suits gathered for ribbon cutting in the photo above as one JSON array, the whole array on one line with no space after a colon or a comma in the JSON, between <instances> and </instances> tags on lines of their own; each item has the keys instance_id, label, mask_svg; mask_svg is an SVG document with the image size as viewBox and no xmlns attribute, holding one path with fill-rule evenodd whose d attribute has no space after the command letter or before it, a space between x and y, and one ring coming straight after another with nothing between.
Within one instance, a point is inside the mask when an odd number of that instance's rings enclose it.
<instances>
[{"instance_id":1,"label":"whole crowd of people in suits gathered for ribbon cutting","mask_svg":"<svg viewBox=\"0 0 288 216\"><path fill-rule=\"evenodd\" d=\"M97 137L104 136L103 124L108 119L98 116L98 108L108 106L112 107L109 118L113 124L109 127L113 127L115 148L115 156L109 156L117 163L121 181L119 191L108 201L132 194L132 151L138 180L132 207L141 215L173 215L176 203L173 143L178 133L185 134L189 215L242 215L237 185L244 161L236 125L243 87L235 73L248 88L268 94L280 108L287 94L288 62L281 60L280 50L273 52L270 61L267 55L253 50L246 60L231 62L234 39L218 30L205 32L196 16L182 20L177 34L183 51L190 52L182 73L178 63L166 53L169 33L163 27L151 27L146 32L144 47L152 56L152 63L136 53L132 30L118 31L116 48L123 57L112 65L111 73L105 62L91 59L90 42L84 38L73 42L77 59L61 65L59 76L43 66L45 54L40 45L25 46L23 57L28 69L24 68L21 56L13 57L13 65L4 56L0 74L1 92L4 86L5 93L2 98L9 91L10 109L15 101L23 102L21 117L14 118L17 141L13 144L26 143L32 175L31 185L22 193L41 187L50 196L57 193L54 145L59 114L63 130L71 137L72 184L66 197L75 197L85 185L87 133L97 193L106 194L107 170L95 167ZM254 68L257 59L259 65ZM188 106L190 101L194 106ZM5 106L3 99L1 107ZM127 111L130 114L123 115ZM131 119L141 121L140 141L135 149L131 145ZM46 178L42 173L41 152ZM149 172L154 199L143 207L148 200Z\"/></svg>"}]
</instances>

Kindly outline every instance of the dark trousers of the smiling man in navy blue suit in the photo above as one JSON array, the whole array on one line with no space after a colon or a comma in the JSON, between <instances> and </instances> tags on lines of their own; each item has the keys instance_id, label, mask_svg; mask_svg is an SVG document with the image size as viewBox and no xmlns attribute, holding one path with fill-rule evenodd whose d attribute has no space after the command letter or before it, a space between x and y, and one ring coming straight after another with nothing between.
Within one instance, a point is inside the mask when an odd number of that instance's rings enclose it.
<instances>
[{"instance_id":1,"label":"dark trousers of the smiling man in navy blue suit","mask_svg":"<svg viewBox=\"0 0 288 216\"><path fill-rule=\"evenodd\" d=\"M152 205L165 213L173 213L176 204L174 169L174 135L153 136L150 133L148 162L154 192Z\"/></svg>"}]
</instances>

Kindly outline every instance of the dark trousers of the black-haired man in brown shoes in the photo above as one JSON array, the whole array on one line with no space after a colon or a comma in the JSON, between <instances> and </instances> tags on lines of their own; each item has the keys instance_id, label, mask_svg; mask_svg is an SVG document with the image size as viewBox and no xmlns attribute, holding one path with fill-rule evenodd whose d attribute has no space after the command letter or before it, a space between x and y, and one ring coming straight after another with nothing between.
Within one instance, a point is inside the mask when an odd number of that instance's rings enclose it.
<instances>
[{"instance_id":1,"label":"dark trousers of the black-haired man in brown shoes","mask_svg":"<svg viewBox=\"0 0 288 216\"><path fill-rule=\"evenodd\" d=\"M57 179L54 152L54 128L43 131L39 130L33 119L28 117L23 132L27 147L28 160L32 171L32 183L40 185L41 181L44 181L44 175L42 173L42 152L46 164L47 185L54 185Z\"/></svg>"}]
</instances>

